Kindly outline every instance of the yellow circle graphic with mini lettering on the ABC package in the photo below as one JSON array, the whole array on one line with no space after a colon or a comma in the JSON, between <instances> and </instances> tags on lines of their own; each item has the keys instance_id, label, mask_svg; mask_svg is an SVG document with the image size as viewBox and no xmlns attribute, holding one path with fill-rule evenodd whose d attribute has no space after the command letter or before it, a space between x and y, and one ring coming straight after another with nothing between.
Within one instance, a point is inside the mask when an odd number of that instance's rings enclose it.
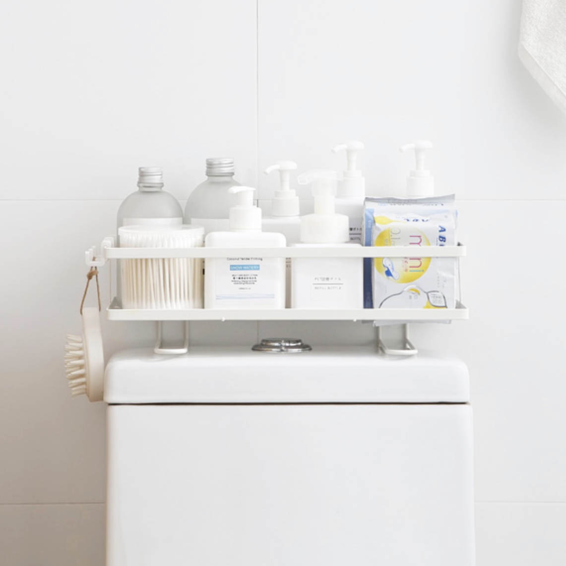
<instances>
[{"instance_id":1,"label":"yellow circle graphic with mini lettering on the ABC package","mask_svg":"<svg viewBox=\"0 0 566 566\"><path fill-rule=\"evenodd\" d=\"M376 224L397 224L382 230L374 246L430 246L428 238L410 224L401 224L385 216L376 216ZM415 250L416 251L416 250ZM386 279L397 283L412 283L421 277L431 264L431 258L376 258L375 268Z\"/></svg>"}]
</instances>

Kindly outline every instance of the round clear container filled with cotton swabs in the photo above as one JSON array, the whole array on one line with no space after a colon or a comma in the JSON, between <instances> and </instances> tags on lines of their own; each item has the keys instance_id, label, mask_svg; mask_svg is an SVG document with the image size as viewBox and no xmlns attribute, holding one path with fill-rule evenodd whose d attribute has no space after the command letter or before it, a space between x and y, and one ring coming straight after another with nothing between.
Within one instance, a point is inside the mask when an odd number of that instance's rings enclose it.
<instances>
[{"instance_id":1,"label":"round clear container filled with cotton swabs","mask_svg":"<svg viewBox=\"0 0 566 566\"><path fill-rule=\"evenodd\" d=\"M204 245L202 226L123 226L120 247L190 248ZM122 308L203 307L201 258L122 259Z\"/></svg>"}]
</instances>

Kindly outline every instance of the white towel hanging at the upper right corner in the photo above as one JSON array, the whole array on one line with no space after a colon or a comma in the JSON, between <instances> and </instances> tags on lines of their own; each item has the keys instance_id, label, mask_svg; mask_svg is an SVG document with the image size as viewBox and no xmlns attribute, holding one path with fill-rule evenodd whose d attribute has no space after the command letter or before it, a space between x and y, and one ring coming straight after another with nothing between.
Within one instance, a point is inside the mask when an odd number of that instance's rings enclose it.
<instances>
[{"instance_id":1,"label":"white towel hanging at the upper right corner","mask_svg":"<svg viewBox=\"0 0 566 566\"><path fill-rule=\"evenodd\" d=\"M519 58L566 113L566 0L523 0Z\"/></svg>"}]
</instances>

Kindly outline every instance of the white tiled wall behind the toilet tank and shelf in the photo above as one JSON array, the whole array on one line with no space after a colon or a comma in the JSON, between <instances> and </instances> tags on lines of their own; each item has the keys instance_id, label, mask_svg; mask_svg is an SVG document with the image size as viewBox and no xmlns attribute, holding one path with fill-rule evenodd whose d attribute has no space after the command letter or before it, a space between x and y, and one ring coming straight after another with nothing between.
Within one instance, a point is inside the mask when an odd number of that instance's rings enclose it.
<instances>
[{"instance_id":1,"label":"white tiled wall behind the toilet tank and shelf","mask_svg":"<svg viewBox=\"0 0 566 566\"><path fill-rule=\"evenodd\" d=\"M460 199L473 314L413 336L470 366L478 566L566 562L566 118L517 60L519 18L518 0L2 2L2 563L103 564L105 408L71 400L62 347L83 251L112 233L136 168L163 165L184 201L205 157L233 155L265 199L276 158L338 168L330 148L359 138L370 192L400 194L397 147L423 137L438 192ZM191 334L249 345L284 328ZM107 354L152 331L105 323ZM372 340L350 323L300 333Z\"/></svg>"}]
</instances>

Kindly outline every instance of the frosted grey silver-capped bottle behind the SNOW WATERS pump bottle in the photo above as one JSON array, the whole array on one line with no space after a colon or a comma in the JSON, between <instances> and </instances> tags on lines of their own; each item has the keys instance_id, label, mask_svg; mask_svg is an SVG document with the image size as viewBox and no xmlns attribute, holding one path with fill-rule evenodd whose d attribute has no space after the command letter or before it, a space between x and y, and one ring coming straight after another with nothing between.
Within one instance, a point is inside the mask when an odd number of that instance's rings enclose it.
<instances>
[{"instance_id":1,"label":"frosted grey silver-capped bottle behind the SNOW WATERS pump bottle","mask_svg":"<svg viewBox=\"0 0 566 566\"><path fill-rule=\"evenodd\" d=\"M231 157L209 157L206 160L206 181L195 187L185 207L185 223L205 227L205 234L229 230L230 208L236 206L230 187L240 185L234 180L234 160Z\"/></svg>"}]
</instances>

